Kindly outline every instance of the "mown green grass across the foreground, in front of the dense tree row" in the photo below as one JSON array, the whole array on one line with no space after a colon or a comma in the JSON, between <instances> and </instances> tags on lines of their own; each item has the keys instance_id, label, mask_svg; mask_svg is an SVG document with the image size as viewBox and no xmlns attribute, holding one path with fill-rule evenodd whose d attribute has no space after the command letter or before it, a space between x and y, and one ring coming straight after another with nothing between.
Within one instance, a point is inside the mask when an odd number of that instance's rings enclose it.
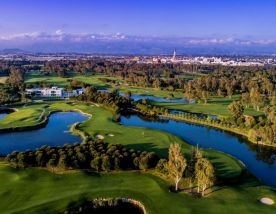
<instances>
[{"instance_id":1,"label":"mown green grass across the foreground, in front of the dense tree row","mask_svg":"<svg viewBox=\"0 0 276 214\"><path fill-rule=\"evenodd\" d=\"M258 202L276 200L271 188L255 180L233 187L215 187L206 198L172 193L168 183L148 173L95 174L72 171L52 174L40 169L16 170L0 165L0 209L6 213L62 213L84 198L128 197L141 201L149 214L274 213L276 206Z\"/></svg>"}]
</instances>

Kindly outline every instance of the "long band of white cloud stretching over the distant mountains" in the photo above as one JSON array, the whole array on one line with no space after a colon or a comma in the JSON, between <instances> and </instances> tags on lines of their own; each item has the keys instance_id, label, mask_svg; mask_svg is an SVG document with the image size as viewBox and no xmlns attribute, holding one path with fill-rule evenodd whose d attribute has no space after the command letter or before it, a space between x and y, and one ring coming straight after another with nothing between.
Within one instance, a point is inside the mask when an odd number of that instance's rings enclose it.
<instances>
[{"instance_id":1,"label":"long band of white cloud stretching over the distant mountains","mask_svg":"<svg viewBox=\"0 0 276 214\"><path fill-rule=\"evenodd\" d=\"M115 34L92 34L65 33L58 29L54 33L46 32L30 32L20 33L9 36L0 36L0 42L94 42L100 41L133 41L133 42L160 42L160 43L176 43L181 45L270 45L276 44L276 40L265 39L239 39L234 37L209 37L209 38L192 38L192 37L158 37L158 36L129 36L122 33Z\"/></svg>"}]
</instances>

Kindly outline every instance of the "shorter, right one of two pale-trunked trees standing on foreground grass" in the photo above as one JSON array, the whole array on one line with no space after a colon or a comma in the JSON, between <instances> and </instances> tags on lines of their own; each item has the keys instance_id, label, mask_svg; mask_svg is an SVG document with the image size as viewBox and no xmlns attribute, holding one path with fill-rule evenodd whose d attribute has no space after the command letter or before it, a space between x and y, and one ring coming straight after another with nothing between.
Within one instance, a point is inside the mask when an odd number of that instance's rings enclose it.
<instances>
[{"instance_id":1,"label":"shorter, right one of two pale-trunked trees standing on foreground grass","mask_svg":"<svg viewBox=\"0 0 276 214\"><path fill-rule=\"evenodd\" d=\"M215 181L215 170L212 163L206 158L199 158L195 163L195 178L197 191L204 196L205 190L211 187Z\"/></svg>"}]
</instances>

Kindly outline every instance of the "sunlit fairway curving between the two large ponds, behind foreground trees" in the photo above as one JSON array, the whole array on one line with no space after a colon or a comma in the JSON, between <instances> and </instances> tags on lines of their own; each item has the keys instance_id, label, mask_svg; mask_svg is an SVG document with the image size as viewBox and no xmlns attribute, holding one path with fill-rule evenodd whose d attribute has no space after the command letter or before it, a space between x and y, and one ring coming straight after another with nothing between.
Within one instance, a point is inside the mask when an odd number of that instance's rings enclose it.
<instances>
[{"instance_id":1,"label":"sunlit fairway curving between the two large ponds, behind foreground trees","mask_svg":"<svg viewBox=\"0 0 276 214\"><path fill-rule=\"evenodd\" d=\"M123 144L128 148L142 151L154 151L162 157L167 157L169 144L173 142L180 143L186 155L191 149L189 144L169 133L142 127L121 126L114 123L112 121L113 114L110 111L91 104L70 105L61 101L22 107L17 112L11 113L5 119L0 120L0 127L28 126L29 123L26 122L28 118L29 121L32 121L32 125L35 125L39 123L38 118L42 112L49 113L57 110L81 110L91 114L92 117L89 120L80 124L79 130L92 138L95 138L96 135L102 135L108 143ZM217 168L217 174L221 177L236 177L243 170L243 167L230 156L212 150L205 150L205 153L212 160Z\"/></svg>"}]
</instances>

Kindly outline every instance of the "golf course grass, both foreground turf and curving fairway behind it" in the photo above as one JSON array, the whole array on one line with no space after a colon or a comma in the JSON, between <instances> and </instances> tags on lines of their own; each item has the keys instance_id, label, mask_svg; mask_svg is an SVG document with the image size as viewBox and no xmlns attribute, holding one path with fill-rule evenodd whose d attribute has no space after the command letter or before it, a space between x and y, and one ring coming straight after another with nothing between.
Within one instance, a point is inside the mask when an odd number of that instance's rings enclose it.
<instances>
[{"instance_id":1,"label":"golf course grass, both foreground turf and curving fairway behind it","mask_svg":"<svg viewBox=\"0 0 276 214\"><path fill-rule=\"evenodd\" d=\"M171 142L180 143L185 155L191 148L188 143L167 132L119 125L113 122L112 112L94 104L56 101L19 107L2 119L0 126L24 127L26 121L33 121L35 126L40 122L38 118L42 113L52 111L81 111L92 115L78 126L78 130L91 138L104 136L108 143L154 151L161 157L167 156ZM224 153L208 149L204 150L204 154L214 164L217 177L224 180L204 198L185 191L170 192L171 181L152 170L110 173L69 170L51 173L39 168L14 169L1 162L1 212L59 213L79 200L99 197L134 198L144 204L148 213L160 214L191 213L203 209L206 213L271 213L275 210L275 205L267 206L259 202L262 197L276 200L274 188L261 184L242 164Z\"/></svg>"}]
</instances>

